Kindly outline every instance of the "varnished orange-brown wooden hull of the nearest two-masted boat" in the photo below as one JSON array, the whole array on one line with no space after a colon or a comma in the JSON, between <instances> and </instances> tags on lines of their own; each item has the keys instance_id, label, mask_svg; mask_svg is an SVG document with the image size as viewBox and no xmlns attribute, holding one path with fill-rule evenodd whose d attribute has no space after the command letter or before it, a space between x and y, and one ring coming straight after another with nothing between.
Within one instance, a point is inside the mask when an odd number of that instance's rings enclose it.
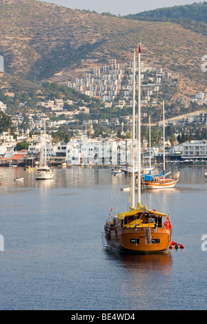
<instances>
[{"instance_id":1,"label":"varnished orange-brown wooden hull of the nearest two-masted boat","mask_svg":"<svg viewBox=\"0 0 207 324\"><path fill-rule=\"evenodd\" d=\"M139 254L168 253L171 239L171 230L167 230L165 227L150 229L150 243L146 243L143 228L110 230L106 226L105 234L107 245L112 250Z\"/></svg>"}]
</instances>

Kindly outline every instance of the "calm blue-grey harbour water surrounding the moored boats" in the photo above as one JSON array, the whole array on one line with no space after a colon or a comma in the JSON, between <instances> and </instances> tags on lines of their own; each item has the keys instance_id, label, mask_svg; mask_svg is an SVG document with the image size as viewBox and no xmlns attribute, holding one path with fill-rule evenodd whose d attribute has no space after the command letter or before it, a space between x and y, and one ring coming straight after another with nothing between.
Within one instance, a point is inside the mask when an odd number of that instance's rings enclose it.
<instances>
[{"instance_id":1,"label":"calm blue-grey harbour water surrounding the moored boats","mask_svg":"<svg viewBox=\"0 0 207 324\"><path fill-rule=\"evenodd\" d=\"M128 208L124 176L74 167L36 181L32 171L4 171L0 310L206 310L205 168L182 168L175 189L142 194L143 204L170 213L172 241L185 245L148 256L102 245L110 208Z\"/></svg>"}]
</instances>

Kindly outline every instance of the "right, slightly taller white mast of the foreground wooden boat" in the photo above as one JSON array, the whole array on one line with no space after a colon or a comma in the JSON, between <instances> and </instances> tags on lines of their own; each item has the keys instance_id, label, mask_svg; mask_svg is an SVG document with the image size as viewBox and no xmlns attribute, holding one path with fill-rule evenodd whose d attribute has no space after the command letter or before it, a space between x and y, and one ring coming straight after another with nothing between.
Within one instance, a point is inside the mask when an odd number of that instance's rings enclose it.
<instances>
[{"instance_id":1,"label":"right, slightly taller white mast of the foreground wooden boat","mask_svg":"<svg viewBox=\"0 0 207 324\"><path fill-rule=\"evenodd\" d=\"M138 188L138 201L137 205L141 204L141 77L140 77L140 56L141 56L141 43L139 43L138 50L138 178L137 178L137 188Z\"/></svg>"}]
</instances>

